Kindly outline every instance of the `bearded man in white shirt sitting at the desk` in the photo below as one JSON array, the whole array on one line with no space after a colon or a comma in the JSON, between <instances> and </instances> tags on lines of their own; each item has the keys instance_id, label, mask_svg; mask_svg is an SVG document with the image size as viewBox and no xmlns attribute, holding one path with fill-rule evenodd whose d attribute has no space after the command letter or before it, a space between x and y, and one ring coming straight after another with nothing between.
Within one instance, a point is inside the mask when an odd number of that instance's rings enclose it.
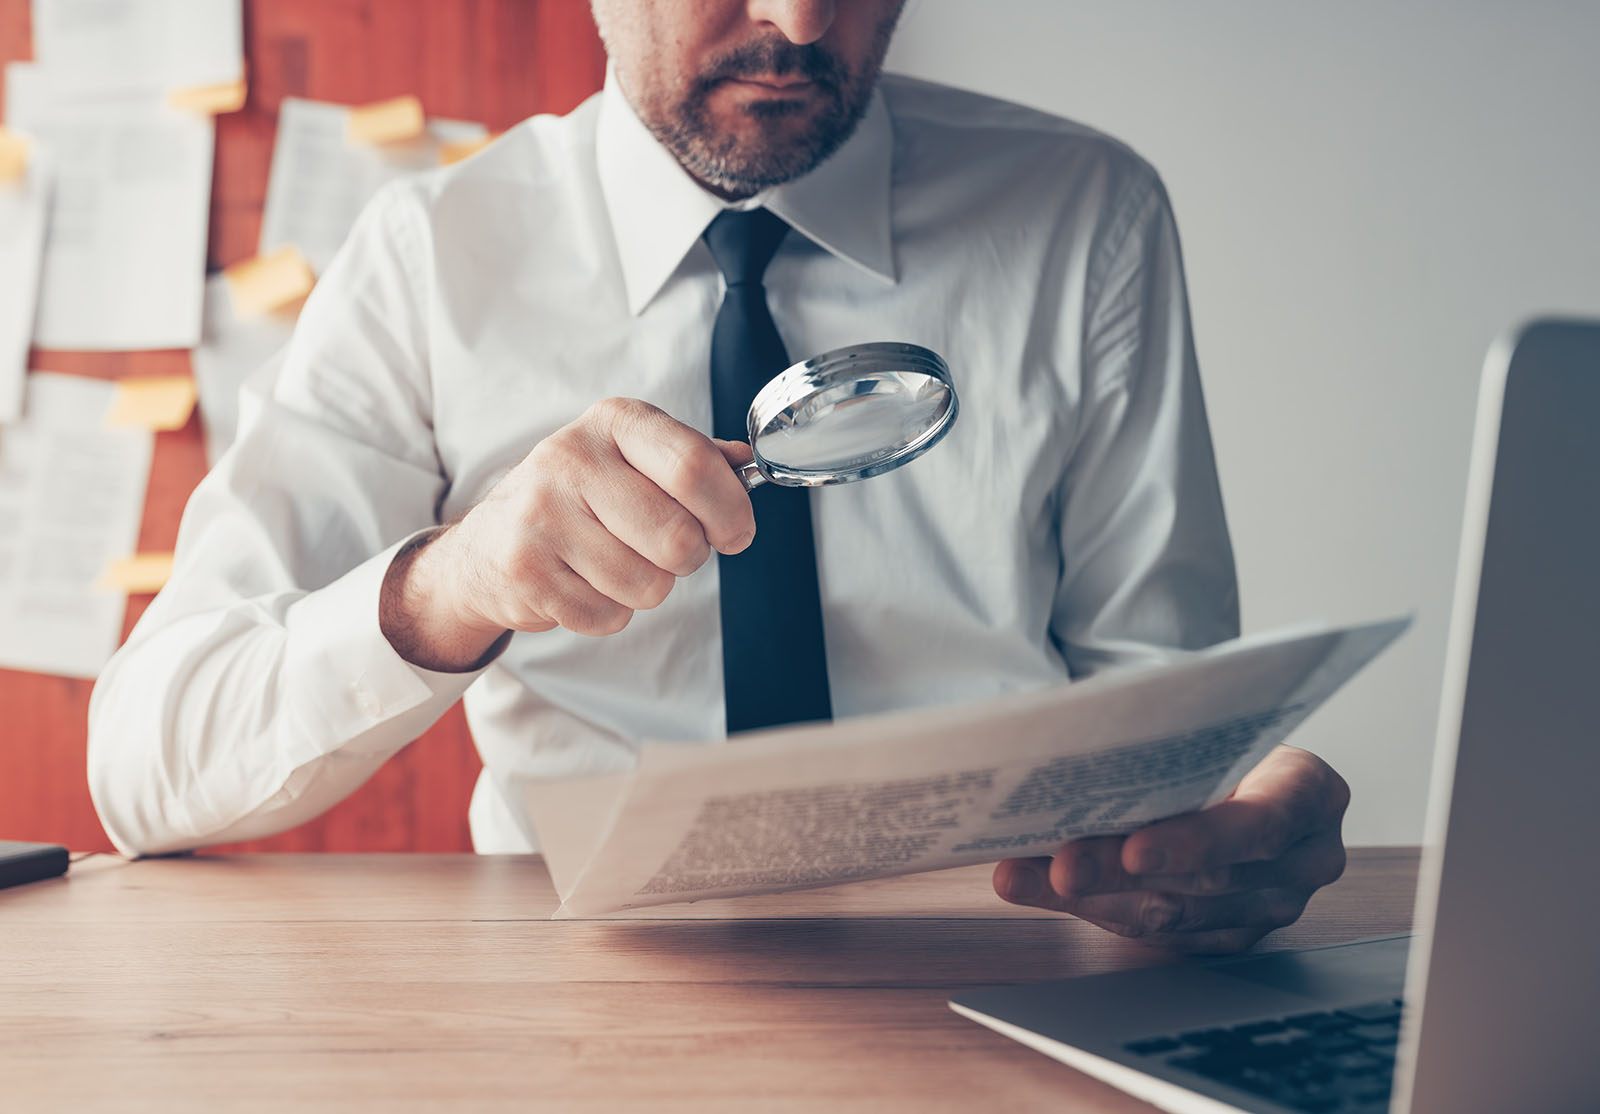
<instances>
[{"instance_id":1,"label":"bearded man in white shirt sitting at the desk","mask_svg":"<svg viewBox=\"0 0 1600 1114\"><path fill-rule=\"evenodd\" d=\"M794 359L910 341L962 395L914 466L802 493L832 714L1237 634L1178 237L1142 160L880 82L901 0L594 6L605 91L379 195L246 387L171 583L94 691L90 783L125 852L306 821L458 698L480 852L536 847L530 779L728 731L720 584L766 514L730 467L749 450L704 432L712 335L750 293L712 253L730 210L782 221L765 303L741 304ZM1339 876L1346 800L1280 747L1227 802L1002 863L995 890L1245 948Z\"/></svg>"}]
</instances>

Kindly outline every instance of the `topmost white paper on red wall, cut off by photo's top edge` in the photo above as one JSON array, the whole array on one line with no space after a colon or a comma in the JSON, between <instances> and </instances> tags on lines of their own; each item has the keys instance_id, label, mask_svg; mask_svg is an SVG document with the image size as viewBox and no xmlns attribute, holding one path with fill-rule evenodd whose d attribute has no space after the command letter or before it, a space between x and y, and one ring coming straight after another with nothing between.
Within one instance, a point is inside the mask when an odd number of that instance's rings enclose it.
<instances>
[{"instance_id":1,"label":"topmost white paper on red wall, cut off by photo's top edge","mask_svg":"<svg viewBox=\"0 0 1600 1114\"><path fill-rule=\"evenodd\" d=\"M66 96L237 82L240 0L34 0L34 59Z\"/></svg>"}]
</instances>

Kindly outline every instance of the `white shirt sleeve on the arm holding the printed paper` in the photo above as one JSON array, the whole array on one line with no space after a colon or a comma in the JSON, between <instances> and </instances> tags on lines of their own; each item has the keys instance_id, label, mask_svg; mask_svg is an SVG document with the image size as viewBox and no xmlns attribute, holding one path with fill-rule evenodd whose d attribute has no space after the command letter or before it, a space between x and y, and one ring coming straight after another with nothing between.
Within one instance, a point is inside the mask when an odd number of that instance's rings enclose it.
<instances>
[{"instance_id":1,"label":"white shirt sleeve on the arm holding the printed paper","mask_svg":"<svg viewBox=\"0 0 1600 1114\"><path fill-rule=\"evenodd\" d=\"M1154 173L1123 194L1094 264L1051 616L1075 675L1238 635L1178 229Z\"/></svg>"}]
</instances>

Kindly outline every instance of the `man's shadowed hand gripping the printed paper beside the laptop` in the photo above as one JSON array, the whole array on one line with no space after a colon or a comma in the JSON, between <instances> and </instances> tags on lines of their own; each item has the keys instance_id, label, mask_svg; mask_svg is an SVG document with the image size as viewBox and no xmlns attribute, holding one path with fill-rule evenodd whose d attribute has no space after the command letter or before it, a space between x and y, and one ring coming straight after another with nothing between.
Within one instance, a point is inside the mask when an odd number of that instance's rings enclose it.
<instances>
[{"instance_id":1,"label":"man's shadowed hand gripping the printed paper beside the laptop","mask_svg":"<svg viewBox=\"0 0 1600 1114\"><path fill-rule=\"evenodd\" d=\"M1349 802L1326 762L1280 746L1211 808L1005 860L995 893L1171 951L1243 951L1344 872Z\"/></svg>"}]
</instances>

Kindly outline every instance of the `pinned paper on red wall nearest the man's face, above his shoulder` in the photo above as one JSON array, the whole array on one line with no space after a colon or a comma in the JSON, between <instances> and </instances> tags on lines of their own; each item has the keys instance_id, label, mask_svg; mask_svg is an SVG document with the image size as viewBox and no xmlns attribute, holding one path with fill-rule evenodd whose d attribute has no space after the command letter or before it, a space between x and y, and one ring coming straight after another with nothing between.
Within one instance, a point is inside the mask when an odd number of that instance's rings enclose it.
<instances>
[{"instance_id":1,"label":"pinned paper on red wall nearest the man's face, above his shoulder","mask_svg":"<svg viewBox=\"0 0 1600 1114\"><path fill-rule=\"evenodd\" d=\"M429 120L416 141L357 144L346 138L349 115L341 104L283 98L261 213L261 254L293 243L322 274L373 194L438 166L442 144L488 134L480 123Z\"/></svg>"}]
</instances>

